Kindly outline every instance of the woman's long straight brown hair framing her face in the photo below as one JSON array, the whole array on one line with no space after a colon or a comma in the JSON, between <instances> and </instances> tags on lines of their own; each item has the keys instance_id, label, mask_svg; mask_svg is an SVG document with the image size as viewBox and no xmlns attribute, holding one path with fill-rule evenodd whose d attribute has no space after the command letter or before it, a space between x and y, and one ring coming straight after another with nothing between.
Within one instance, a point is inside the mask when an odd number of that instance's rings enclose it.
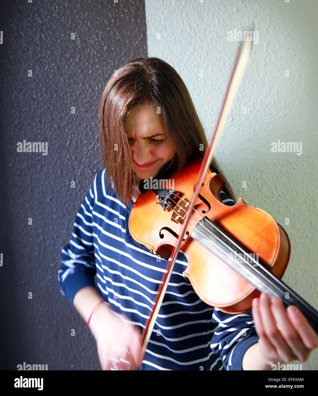
<instances>
[{"instance_id":1,"label":"woman's long straight brown hair framing her face","mask_svg":"<svg viewBox=\"0 0 318 396\"><path fill-rule=\"evenodd\" d=\"M99 105L99 128L104 168L126 206L129 206L135 173L131 168L125 117L143 103L157 109L175 143L175 156L167 165L170 172L178 171L194 155L203 158L208 145L189 91L172 66L155 57L125 63L106 83ZM214 168L218 169L227 192L236 202L215 159L210 170L214 172Z\"/></svg>"}]
</instances>

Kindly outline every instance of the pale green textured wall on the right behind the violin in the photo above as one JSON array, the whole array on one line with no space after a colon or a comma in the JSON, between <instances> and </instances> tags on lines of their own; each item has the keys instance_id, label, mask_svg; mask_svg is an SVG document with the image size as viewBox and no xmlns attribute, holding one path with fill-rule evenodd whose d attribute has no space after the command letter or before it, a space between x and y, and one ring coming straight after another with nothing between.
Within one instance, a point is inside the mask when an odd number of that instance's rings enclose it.
<instances>
[{"instance_id":1,"label":"pale green textured wall on the right behind the violin","mask_svg":"<svg viewBox=\"0 0 318 396\"><path fill-rule=\"evenodd\" d=\"M164 59L183 78L208 137L238 44L228 40L228 32L249 30L254 23L258 43L252 45L216 159L235 196L264 209L285 228L291 259L283 281L316 309L317 4L145 0L148 56ZM301 143L301 155L272 152L278 139ZM318 350L305 363L293 363L318 369Z\"/></svg>"}]
</instances>

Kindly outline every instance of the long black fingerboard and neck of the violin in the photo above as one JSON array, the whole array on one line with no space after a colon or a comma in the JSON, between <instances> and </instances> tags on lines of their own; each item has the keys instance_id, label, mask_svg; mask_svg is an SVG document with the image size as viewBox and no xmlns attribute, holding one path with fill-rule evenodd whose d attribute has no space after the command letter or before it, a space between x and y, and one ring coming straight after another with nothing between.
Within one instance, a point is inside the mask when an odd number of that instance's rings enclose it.
<instances>
[{"instance_id":1,"label":"long black fingerboard and neck of the violin","mask_svg":"<svg viewBox=\"0 0 318 396\"><path fill-rule=\"evenodd\" d=\"M208 217L203 217L191 233L191 237L206 247L235 272L241 275L258 291L268 293L271 297L279 297L284 305L296 305L308 322L318 333L318 312L302 299L295 291L272 274L266 264L251 257L245 248L228 235L223 229L213 223Z\"/></svg>"}]
</instances>

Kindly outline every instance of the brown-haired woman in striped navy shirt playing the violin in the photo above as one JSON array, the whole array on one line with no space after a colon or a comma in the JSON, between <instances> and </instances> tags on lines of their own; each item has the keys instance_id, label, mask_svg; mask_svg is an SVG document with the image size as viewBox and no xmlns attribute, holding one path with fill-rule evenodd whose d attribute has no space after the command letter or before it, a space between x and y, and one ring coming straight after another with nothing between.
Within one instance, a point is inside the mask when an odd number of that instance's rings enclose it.
<instances>
[{"instance_id":1,"label":"brown-haired woman in striped navy shirt playing the violin","mask_svg":"<svg viewBox=\"0 0 318 396\"><path fill-rule=\"evenodd\" d=\"M62 249L58 279L63 295L88 322L102 369L266 370L278 361L305 361L318 337L297 308L293 316L293 307L286 311L266 293L245 314L210 307L182 275L187 259L180 252L137 367L141 331L166 261L131 237L129 213L143 179L173 174L193 156L203 158L207 141L185 84L158 58L135 59L117 70L99 113L104 167ZM211 170L216 167L214 160ZM233 205L226 186L219 198Z\"/></svg>"}]
</instances>

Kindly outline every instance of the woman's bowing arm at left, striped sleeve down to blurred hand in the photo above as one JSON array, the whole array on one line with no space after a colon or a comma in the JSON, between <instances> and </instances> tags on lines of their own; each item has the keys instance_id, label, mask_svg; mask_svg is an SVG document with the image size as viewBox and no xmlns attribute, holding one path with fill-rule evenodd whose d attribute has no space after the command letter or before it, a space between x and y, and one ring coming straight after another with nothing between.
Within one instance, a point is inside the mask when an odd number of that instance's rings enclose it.
<instances>
[{"instance_id":1,"label":"woman's bowing arm at left, striped sleeve down to blurred hand","mask_svg":"<svg viewBox=\"0 0 318 396\"><path fill-rule=\"evenodd\" d=\"M62 248L58 280L62 294L86 323L94 310L89 328L97 343L102 369L137 369L134 362L139 358L139 330L125 315L114 314L106 304L98 305L102 297L94 282L93 206L96 176L76 215L71 240Z\"/></svg>"}]
</instances>

